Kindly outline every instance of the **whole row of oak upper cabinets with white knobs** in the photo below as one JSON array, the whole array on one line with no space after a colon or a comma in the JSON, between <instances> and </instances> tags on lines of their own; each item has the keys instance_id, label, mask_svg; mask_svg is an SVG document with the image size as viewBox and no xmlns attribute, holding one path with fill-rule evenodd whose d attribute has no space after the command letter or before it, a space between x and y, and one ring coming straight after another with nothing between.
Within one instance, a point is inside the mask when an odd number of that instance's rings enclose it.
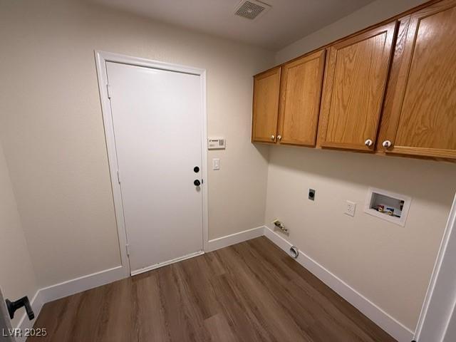
<instances>
[{"instance_id":1,"label":"whole row of oak upper cabinets with white knobs","mask_svg":"<svg viewBox=\"0 0 456 342\"><path fill-rule=\"evenodd\" d=\"M252 141L456 160L456 0L254 77Z\"/></svg>"}]
</instances>

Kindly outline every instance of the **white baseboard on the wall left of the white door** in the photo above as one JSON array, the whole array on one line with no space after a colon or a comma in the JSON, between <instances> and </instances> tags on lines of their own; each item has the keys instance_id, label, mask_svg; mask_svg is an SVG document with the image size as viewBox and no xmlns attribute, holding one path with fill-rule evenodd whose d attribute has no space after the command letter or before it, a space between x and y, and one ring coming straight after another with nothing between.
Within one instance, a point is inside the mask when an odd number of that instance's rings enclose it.
<instances>
[{"instance_id":1,"label":"white baseboard on the wall left of the white door","mask_svg":"<svg viewBox=\"0 0 456 342\"><path fill-rule=\"evenodd\" d=\"M43 303L48 303L49 301L55 301L56 299L71 296L72 294L78 294L79 292L90 290L124 278L125 269L123 266L117 266L112 269L105 269L104 271L48 286L40 289L39 292Z\"/></svg>"}]
</instances>

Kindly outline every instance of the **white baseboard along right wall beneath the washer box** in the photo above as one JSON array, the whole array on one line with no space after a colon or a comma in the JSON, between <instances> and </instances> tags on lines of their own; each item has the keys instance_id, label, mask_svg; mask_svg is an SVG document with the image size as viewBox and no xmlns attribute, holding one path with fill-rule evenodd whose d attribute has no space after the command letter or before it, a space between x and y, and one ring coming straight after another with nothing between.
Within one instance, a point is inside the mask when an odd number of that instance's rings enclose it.
<instances>
[{"instance_id":1,"label":"white baseboard along right wall beneath the washer box","mask_svg":"<svg viewBox=\"0 0 456 342\"><path fill-rule=\"evenodd\" d=\"M279 234L269 229L269 227L264 227L264 235L287 254L289 253L292 244L286 241L284 237L279 236ZM299 251L299 257L296 261L298 261L301 266L304 266L307 270L311 271L318 279L323 281L323 283L333 289L333 291L336 291L339 296L355 306L356 309L361 311L396 340L399 342L410 342L413 340L413 331L373 304L373 302L318 264L318 262L307 256L304 252Z\"/></svg>"}]
</instances>

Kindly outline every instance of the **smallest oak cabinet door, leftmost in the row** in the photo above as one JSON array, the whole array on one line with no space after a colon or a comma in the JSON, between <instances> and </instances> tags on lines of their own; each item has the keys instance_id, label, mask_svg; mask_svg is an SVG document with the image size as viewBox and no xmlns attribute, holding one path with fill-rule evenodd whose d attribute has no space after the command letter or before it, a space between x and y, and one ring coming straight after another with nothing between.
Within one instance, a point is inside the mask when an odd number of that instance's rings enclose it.
<instances>
[{"instance_id":1,"label":"smallest oak cabinet door, leftmost in the row","mask_svg":"<svg viewBox=\"0 0 456 342\"><path fill-rule=\"evenodd\" d=\"M280 67L254 76L252 141L276 142Z\"/></svg>"}]
</instances>

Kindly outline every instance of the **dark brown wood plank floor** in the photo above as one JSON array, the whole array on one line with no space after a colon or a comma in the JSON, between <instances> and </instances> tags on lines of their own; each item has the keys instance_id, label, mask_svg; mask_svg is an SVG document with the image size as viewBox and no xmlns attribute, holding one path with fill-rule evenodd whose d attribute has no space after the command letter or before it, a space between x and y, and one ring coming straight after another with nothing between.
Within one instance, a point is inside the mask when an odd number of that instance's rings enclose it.
<instances>
[{"instance_id":1,"label":"dark brown wood plank floor","mask_svg":"<svg viewBox=\"0 0 456 342\"><path fill-rule=\"evenodd\" d=\"M265 237L46 304L28 342L395 341Z\"/></svg>"}]
</instances>

